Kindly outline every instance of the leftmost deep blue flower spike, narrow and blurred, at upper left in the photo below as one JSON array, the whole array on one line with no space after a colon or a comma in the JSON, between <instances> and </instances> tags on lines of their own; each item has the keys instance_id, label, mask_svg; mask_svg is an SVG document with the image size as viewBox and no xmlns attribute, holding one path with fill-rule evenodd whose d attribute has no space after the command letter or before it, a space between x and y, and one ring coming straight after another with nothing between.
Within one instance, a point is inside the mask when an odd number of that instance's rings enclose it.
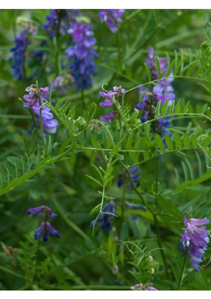
<instances>
[{"instance_id":1,"label":"leftmost deep blue flower spike, narrow and blurred, at upper left","mask_svg":"<svg viewBox=\"0 0 211 299\"><path fill-rule=\"evenodd\" d=\"M14 52L9 58L11 65L11 73L14 78L21 80L24 77L24 59L25 51L29 45L29 39L27 36L27 30L24 29L19 36L14 39L15 46L13 46L10 51Z\"/></svg>"}]
</instances>

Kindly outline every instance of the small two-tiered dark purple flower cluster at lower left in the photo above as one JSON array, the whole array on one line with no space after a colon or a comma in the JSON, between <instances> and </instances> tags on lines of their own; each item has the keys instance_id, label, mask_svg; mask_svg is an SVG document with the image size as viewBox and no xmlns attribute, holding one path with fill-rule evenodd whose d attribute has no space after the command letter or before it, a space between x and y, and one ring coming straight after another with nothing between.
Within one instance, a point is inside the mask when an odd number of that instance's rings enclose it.
<instances>
[{"instance_id":1,"label":"small two-tiered dark purple flower cluster at lower left","mask_svg":"<svg viewBox=\"0 0 211 299\"><path fill-rule=\"evenodd\" d=\"M47 221L48 218L54 219L57 217L57 214L54 214L52 210L45 206L41 205L39 207L30 208L26 211L26 214L38 214L38 217L42 220L38 230L34 233L35 240L38 240L42 236L44 242L48 241L49 235L60 238L60 234L55 228Z\"/></svg>"}]
</instances>

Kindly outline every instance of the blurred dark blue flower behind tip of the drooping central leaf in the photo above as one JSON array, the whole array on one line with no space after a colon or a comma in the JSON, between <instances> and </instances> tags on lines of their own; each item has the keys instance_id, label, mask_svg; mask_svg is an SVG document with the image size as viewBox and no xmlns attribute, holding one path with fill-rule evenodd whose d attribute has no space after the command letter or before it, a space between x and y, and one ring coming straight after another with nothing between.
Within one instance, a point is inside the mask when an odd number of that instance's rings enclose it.
<instances>
[{"instance_id":1,"label":"blurred dark blue flower behind tip of the drooping central leaf","mask_svg":"<svg viewBox=\"0 0 211 299\"><path fill-rule=\"evenodd\" d=\"M109 231L112 229L112 220L115 215L115 202L113 200L106 203L105 207L103 208L102 213L97 219L97 222L100 223L100 228L104 229L106 232L106 235L109 233ZM96 220L93 220L91 222L91 227L94 226Z\"/></svg>"}]
</instances>

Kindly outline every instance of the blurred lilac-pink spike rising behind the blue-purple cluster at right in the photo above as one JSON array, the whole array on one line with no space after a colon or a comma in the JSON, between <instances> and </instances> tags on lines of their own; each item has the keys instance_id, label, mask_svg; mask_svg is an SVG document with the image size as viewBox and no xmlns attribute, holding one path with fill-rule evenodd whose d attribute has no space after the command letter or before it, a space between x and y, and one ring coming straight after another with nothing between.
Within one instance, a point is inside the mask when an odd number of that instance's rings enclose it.
<instances>
[{"instance_id":1,"label":"blurred lilac-pink spike rising behind the blue-purple cluster at right","mask_svg":"<svg viewBox=\"0 0 211 299\"><path fill-rule=\"evenodd\" d=\"M164 78L164 77L166 77L166 73L167 73L168 59L167 59L167 57L158 57L158 56L156 56L156 57L159 62L160 71L164 72L164 74L162 76ZM159 79L156 60L154 58L154 49L152 47L149 48L148 58L145 60L145 62L151 71L152 80ZM170 72L169 76L172 77L173 72ZM160 84L161 87L163 87L166 92L169 92L169 91L174 90L173 87L171 86L171 83L173 80L174 80L174 78L167 78L167 79L163 79L163 80L158 80L157 83Z\"/></svg>"}]
</instances>

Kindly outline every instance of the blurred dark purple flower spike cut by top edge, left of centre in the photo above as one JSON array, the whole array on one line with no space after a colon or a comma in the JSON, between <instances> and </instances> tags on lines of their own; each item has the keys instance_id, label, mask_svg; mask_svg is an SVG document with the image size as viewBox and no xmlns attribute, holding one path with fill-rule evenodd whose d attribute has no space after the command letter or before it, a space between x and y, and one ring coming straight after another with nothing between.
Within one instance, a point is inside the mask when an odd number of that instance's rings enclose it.
<instances>
[{"instance_id":1,"label":"blurred dark purple flower spike cut by top edge, left of centre","mask_svg":"<svg viewBox=\"0 0 211 299\"><path fill-rule=\"evenodd\" d=\"M51 12L46 16L47 23L43 28L49 32L50 38L53 38L57 32L64 35L70 25L73 13L77 13L79 9L51 9Z\"/></svg>"}]
</instances>

